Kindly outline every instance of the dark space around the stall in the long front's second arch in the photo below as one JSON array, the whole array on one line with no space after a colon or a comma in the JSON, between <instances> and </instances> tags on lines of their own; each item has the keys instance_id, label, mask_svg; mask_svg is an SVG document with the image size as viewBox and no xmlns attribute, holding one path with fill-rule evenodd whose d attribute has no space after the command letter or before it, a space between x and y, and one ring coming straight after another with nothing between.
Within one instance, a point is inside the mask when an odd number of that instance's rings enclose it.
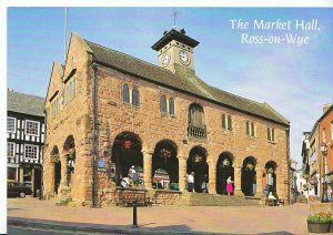
<instances>
[{"instance_id":1,"label":"dark space around the stall in the long front's second arch","mask_svg":"<svg viewBox=\"0 0 333 235\"><path fill-rule=\"evenodd\" d=\"M154 153L152 156L152 175L153 182L154 176L159 174L160 170L164 170L169 176L169 183L179 183L179 159L178 159L178 146L171 140L159 141L155 145ZM158 183L155 178L155 183ZM167 181L168 182L168 181Z\"/></svg>"}]
</instances>

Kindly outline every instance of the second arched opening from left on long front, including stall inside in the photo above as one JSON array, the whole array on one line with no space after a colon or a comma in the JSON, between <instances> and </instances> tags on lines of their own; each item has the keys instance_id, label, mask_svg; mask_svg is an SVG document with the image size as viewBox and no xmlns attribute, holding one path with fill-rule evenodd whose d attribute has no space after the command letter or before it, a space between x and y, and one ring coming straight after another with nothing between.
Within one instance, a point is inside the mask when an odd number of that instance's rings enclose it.
<instances>
[{"instance_id":1,"label":"second arched opening from left on long front, including stall inside","mask_svg":"<svg viewBox=\"0 0 333 235\"><path fill-rule=\"evenodd\" d=\"M179 161L176 145L169 140L160 141L152 157L153 184L163 188L179 188ZM157 186L158 188L158 186Z\"/></svg>"}]
</instances>

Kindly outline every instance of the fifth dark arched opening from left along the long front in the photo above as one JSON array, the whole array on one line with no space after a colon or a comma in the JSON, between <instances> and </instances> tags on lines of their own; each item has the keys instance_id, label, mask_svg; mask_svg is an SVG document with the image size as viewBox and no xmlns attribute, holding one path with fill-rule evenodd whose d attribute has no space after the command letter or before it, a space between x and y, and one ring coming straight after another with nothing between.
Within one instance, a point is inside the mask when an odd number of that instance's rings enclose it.
<instances>
[{"instance_id":1,"label":"fifth dark arched opening from left along the long front","mask_svg":"<svg viewBox=\"0 0 333 235\"><path fill-rule=\"evenodd\" d=\"M253 156L248 156L243 161L241 188L245 196L253 196L256 193L256 160Z\"/></svg>"}]
</instances>

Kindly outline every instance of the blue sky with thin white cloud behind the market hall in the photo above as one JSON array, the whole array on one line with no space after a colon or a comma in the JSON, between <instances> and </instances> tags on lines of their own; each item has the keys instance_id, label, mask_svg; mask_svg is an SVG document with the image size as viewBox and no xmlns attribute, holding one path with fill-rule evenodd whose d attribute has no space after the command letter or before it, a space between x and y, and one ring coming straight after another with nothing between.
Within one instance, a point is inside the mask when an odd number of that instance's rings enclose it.
<instances>
[{"instance_id":1,"label":"blue sky with thin white cloud behind the market hall","mask_svg":"<svg viewBox=\"0 0 333 235\"><path fill-rule=\"evenodd\" d=\"M178 8L178 28L200 41L196 74L211 85L268 102L291 121L301 167L302 132L333 102L333 9ZM151 45L173 27L172 8L69 8L68 32L157 64ZM53 61L63 62L63 8L8 8L8 88L44 96ZM232 30L231 19L319 20L320 31ZM242 44L252 35L307 35L309 44ZM68 38L70 33L68 33Z\"/></svg>"}]
</instances>

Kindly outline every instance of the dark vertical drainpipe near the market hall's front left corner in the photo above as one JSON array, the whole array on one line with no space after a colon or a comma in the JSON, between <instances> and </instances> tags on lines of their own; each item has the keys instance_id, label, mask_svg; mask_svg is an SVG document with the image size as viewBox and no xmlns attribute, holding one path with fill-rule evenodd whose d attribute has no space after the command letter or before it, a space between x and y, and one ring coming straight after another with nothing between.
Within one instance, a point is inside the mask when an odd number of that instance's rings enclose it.
<instances>
[{"instance_id":1,"label":"dark vertical drainpipe near the market hall's front left corner","mask_svg":"<svg viewBox=\"0 0 333 235\"><path fill-rule=\"evenodd\" d=\"M97 159L97 81L95 81L97 63L92 63L92 206L97 207L95 202L95 159Z\"/></svg>"}]
</instances>

